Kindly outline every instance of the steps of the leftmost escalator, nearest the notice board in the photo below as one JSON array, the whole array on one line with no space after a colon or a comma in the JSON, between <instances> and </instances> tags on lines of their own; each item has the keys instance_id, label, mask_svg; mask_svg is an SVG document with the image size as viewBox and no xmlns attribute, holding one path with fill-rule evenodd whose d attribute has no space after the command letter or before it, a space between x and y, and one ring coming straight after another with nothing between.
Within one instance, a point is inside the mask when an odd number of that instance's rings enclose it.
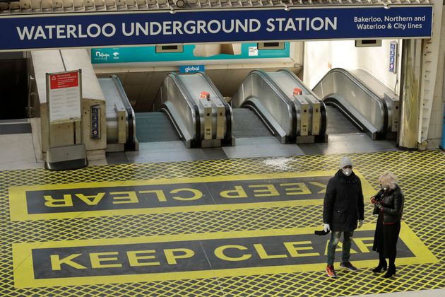
<instances>
[{"instance_id":1,"label":"steps of the leftmost escalator, nearest the notice board","mask_svg":"<svg viewBox=\"0 0 445 297\"><path fill-rule=\"evenodd\" d=\"M139 142L181 140L164 112L136 113L136 137Z\"/></svg>"}]
</instances>

